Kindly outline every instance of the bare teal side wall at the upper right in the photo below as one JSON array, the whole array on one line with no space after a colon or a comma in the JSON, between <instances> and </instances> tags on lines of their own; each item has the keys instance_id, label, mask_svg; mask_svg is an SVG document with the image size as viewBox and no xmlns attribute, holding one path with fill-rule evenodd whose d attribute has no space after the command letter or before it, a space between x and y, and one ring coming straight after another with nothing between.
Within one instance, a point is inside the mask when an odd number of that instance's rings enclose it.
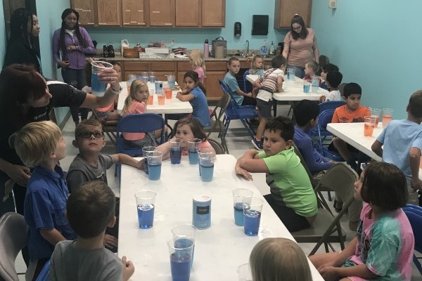
<instances>
[{"instance_id":1,"label":"bare teal side wall at the upper right","mask_svg":"<svg viewBox=\"0 0 422 281\"><path fill-rule=\"evenodd\" d=\"M391 107L405 118L411 93L422 89L422 1L353 0L312 3L320 53L362 86L362 104Z\"/></svg>"}]
</instances>

